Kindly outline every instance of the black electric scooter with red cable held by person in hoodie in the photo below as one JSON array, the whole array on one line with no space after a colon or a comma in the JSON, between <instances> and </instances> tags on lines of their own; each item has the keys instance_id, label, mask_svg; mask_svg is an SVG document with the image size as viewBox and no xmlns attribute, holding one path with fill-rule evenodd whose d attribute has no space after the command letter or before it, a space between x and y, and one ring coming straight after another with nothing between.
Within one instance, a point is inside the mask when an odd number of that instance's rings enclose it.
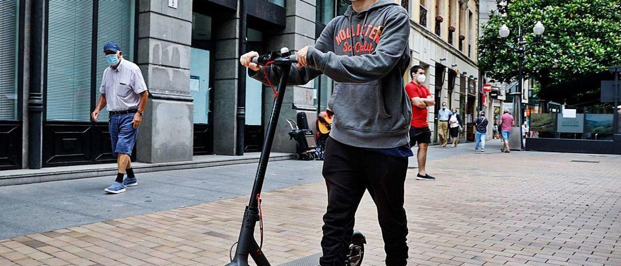
<instances>
[{"instance_id":1,"label":"black electric scooter with red cable held by person in hoodie","mask_svg":"<svg viewBox=\"0 0 621 266\"><path fill-rule=\"evenodd\" d=\"M265 180L265 171L270 159L271 145L276 132L276 124L278 124L280 108L283 105L289 70L291 70L291 64L297 63L297 60L295 55L291 55L289 48L283 47L281 48L280 53L272 52L268 55L261 55L260 57L253 58L252 62L261 66L274 65L275 67L280 68L280 73L282 73L282 75L280 76L278 82L278 90L273 88L268 78L268 83L270 83L270 86L274 89L274 98L276 99L271 112L270 122L268 123L265 142L263 142L263 147L261 149L261 157L259 159L259 165L256 169L255 184L252 187L252 193L250 193L250 203L248 203L248 206L246 206L243 213L242 229L239 232L235 257L233 257L231 262L226 266L248 266L249 255L255 261L257 266L271 266L270 262L268 262L265 254L263 254L263 251L261 250L263 246L263 213L261 211L260 195L261 188L263 187L263 180ZM257 221L260 222L260 244L256 242L254 236ZM354 231L353 236L351 237L349 254L346 257L346 261L343 262L343 266L361 265L365 254L364 244L366 244L365 236L358 231ZM317 262L307 266L316 265Z\"/></svg>"}]
</instances>

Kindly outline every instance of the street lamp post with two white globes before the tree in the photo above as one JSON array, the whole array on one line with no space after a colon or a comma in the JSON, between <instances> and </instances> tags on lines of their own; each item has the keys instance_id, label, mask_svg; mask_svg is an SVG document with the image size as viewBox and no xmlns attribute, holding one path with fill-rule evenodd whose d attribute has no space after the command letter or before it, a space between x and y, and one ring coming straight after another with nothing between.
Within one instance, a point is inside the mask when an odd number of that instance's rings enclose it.
<instances>
[{"instance_id":1,"label":"street lamp post with two white globes before the tree","mask_svg":"<svg viewBox=\"0 0 621 266\"><path fill-rule=\"evenodd\" d=\"M535 34L535 36L537 37L537 41L541 40L544 30L545 30L545 27L543 26L542 22L537 21L537 24L535 24L535 26L533 27L533 34ZM507 24L502 24L500 29L498 29L498 35L500 35L502 39L507 39L507 37L509 37L509 34L510 34L510 30L509 30L509 27L507 27ZM508 45L508 46L516 50L518 53L517 63L518 63L519 70L518 70L518 75L517 75L517 79L518 79L517 93L515 93L513 97L513 101L514 101L514 112L513 113L514 113L514 119L515 119L515 126L517 126L517 130L519 130L520 132L520 137L519 137L520 138L520 150L524 150L524 139L523 139L524 132L522 132L522 94L523 94L522 85L524 84L523 82L524 77L522 76L522 68L524 65L524 52L525 52L526 40L524 36L522 36L522 25L518 25L518 28L517 28L517 47L512 47L511 45ZM515 99L516 97L518 97L517 101Z\"/></svg>"}]
</instances>

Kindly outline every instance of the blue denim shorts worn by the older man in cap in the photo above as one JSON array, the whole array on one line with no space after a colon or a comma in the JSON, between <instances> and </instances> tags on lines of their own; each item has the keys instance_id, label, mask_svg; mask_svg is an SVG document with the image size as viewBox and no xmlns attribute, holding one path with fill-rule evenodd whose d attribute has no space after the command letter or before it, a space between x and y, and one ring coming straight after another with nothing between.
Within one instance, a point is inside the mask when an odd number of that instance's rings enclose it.
<instances>
[{"instance_id":1,"label":"blue denim shorts worn by the older man in cap","mask_svg":"<svg viewBox=\"0 0 621 266\"><path fill-rule=\"evenodd\" d=\"M138 129L134 128L134 113L112 114L110 116L110 140L112 141L112 155L132 155L132 150L138 137Z\"/></svg>"}]
</instances>

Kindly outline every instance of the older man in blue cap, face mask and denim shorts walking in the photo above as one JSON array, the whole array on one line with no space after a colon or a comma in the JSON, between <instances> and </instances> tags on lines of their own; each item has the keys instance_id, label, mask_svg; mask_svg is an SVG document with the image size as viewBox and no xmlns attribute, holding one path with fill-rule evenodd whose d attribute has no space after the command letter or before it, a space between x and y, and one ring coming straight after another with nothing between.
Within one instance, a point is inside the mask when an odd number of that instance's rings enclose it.
<instances>
[{"instance_id":1,"label":"older man in blue cap, face mask and denim shorts walking","mask_svg":"<svg viewBox=\"0 0 621 266\"><path fill-rule=\"evenodd\" d=\"M104 56L110 66L104 71L101 96L91 118L97 122L99 112L107 104L112 154L117 157L119 172L116 180L104 191L119 194L125 192L126 186L138 185L129 157L136 143L149 93L140 68L123 58L119 44L109 42L104 45ZM124 180L125 173L127 178Z\"/></svg>"}]
</instances>

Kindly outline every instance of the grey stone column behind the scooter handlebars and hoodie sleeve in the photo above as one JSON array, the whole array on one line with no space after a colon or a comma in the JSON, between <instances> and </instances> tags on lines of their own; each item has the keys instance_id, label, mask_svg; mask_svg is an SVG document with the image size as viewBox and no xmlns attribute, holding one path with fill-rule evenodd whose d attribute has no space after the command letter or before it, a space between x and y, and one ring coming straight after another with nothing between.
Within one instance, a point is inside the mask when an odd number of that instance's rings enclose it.
<instances>
[{"instance_id":1,"label":"grey stone column behind the scooter handlebars and hoodie sleeve","mask_svg":"<svg viewBox=\"0 0 621 266\"><path fill-rule=\"evenodd\" d=\"M315 0L287 0L286 28L270 40L268 50L278 51L281 47L288 47L297 51L306 45L315 44L315 10ZM296 151L296 142L290 140L287 134L291 129L286 119L296 121L298 112L307 112L309 126L314 129L317 109L313 103L313 86L314 82L311 81L306 85L287 88L274 137L274 152ZM265 96L265 124L270 119L273 103L273 94L268 89Z\"/></svg>"}]
</instances>

